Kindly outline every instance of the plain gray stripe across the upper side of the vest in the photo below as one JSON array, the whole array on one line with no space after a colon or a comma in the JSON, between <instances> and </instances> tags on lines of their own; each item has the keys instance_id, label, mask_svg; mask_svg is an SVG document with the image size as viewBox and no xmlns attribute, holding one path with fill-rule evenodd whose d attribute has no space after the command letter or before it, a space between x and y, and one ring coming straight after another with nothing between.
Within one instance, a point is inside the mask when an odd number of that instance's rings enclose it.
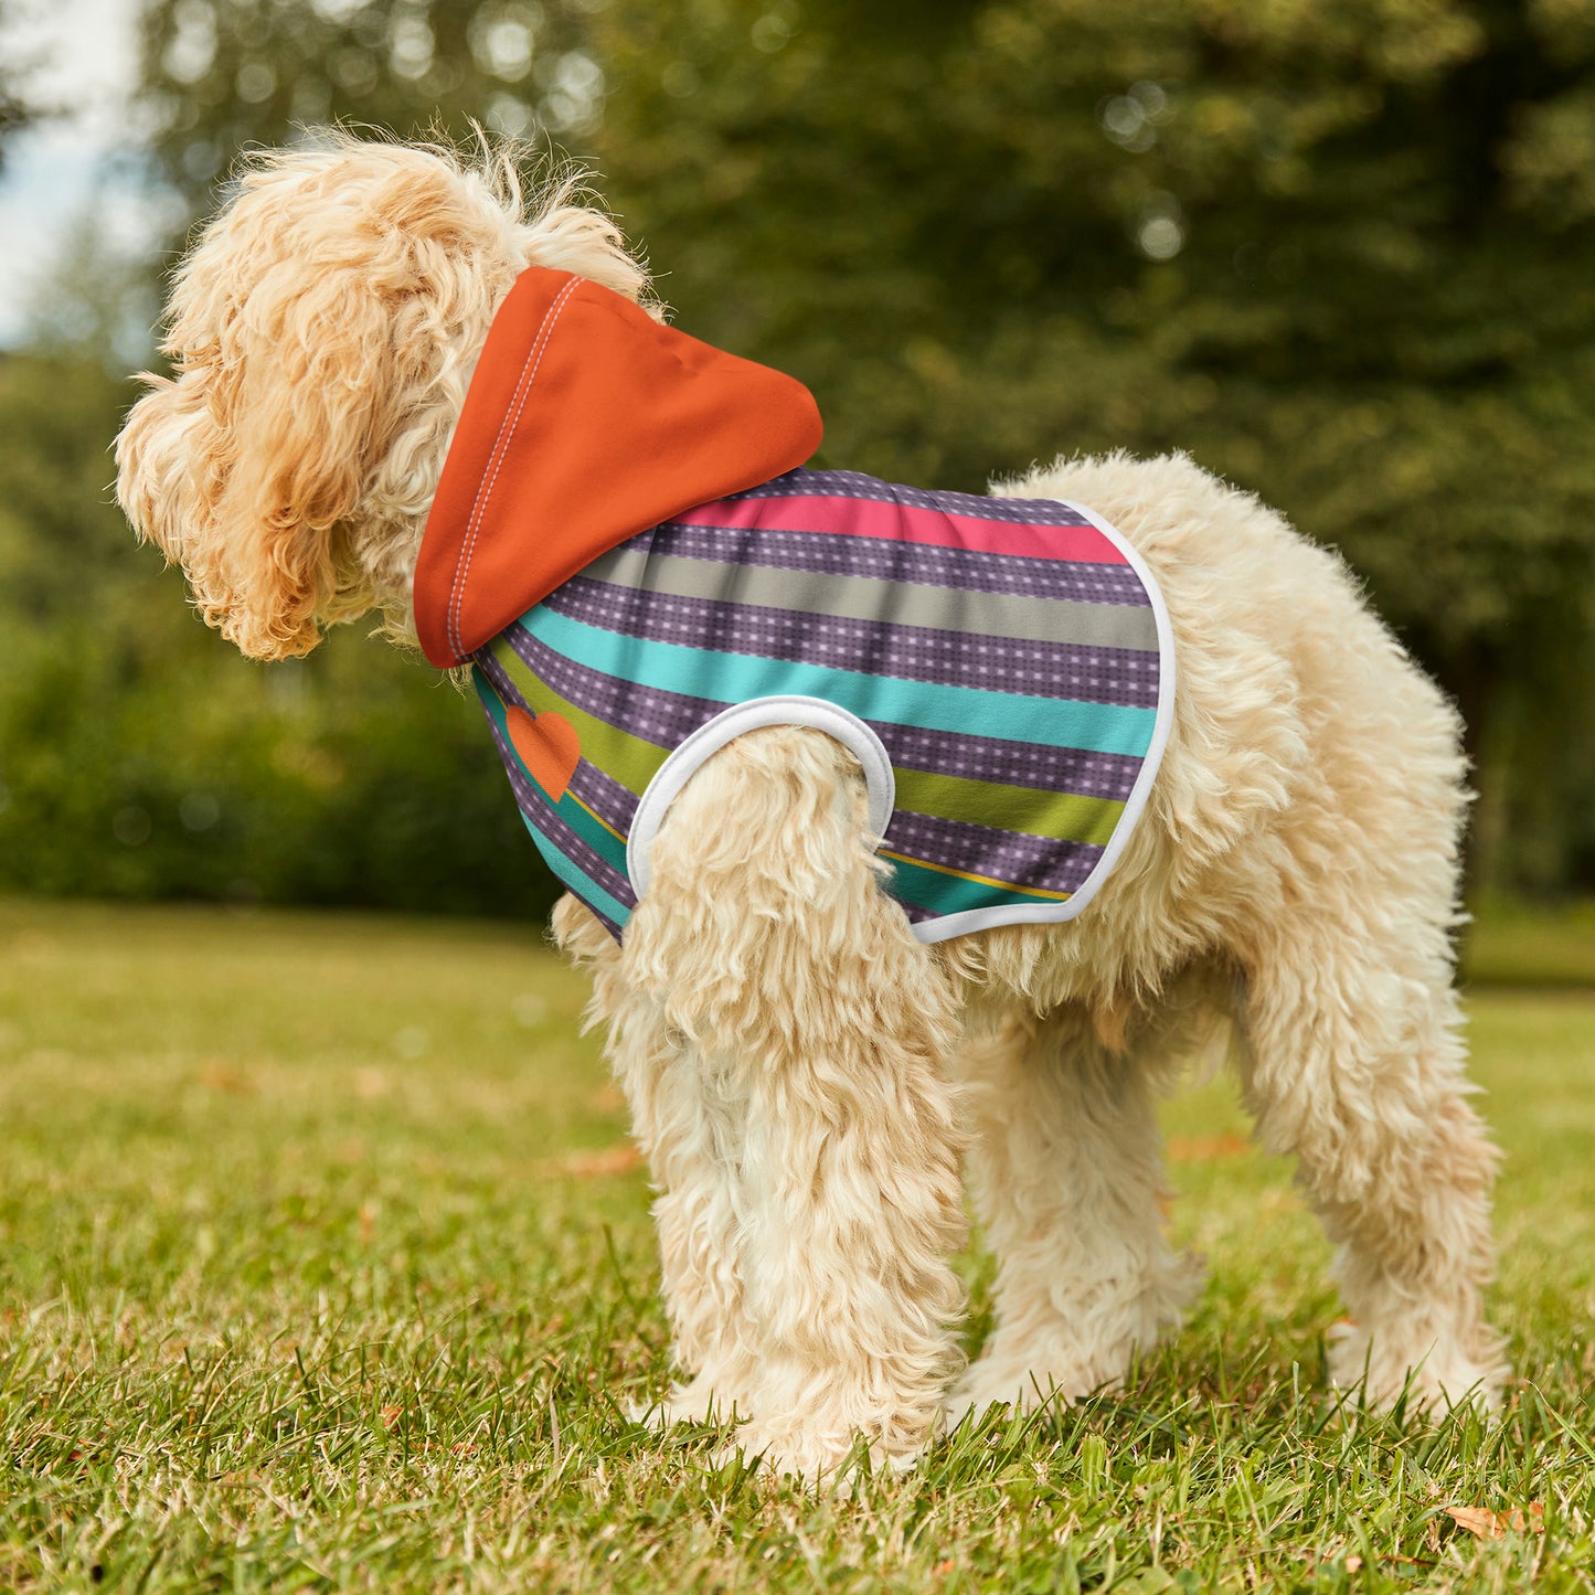
<instances>
[{"instance_id":1,"label":"plain gray stripe across the upper side of the vest","mask_svg":"<svg viewBox=\"0 0 1595 1595\"><path fill-rule=\"evenodd\" d=\"M1091 648L1139 648L1156 652L1158 622L1144 606L1026 598L916 582L882 582L868 576L782 571L761 565L718 565L679 560L622 544L589 565L582 576L612 587L632 587L671 598L758 605L831 614L845 620L924 625L938 632L1014 636L1034 643L1077 643Z\"/></svg>"}]
</instances>

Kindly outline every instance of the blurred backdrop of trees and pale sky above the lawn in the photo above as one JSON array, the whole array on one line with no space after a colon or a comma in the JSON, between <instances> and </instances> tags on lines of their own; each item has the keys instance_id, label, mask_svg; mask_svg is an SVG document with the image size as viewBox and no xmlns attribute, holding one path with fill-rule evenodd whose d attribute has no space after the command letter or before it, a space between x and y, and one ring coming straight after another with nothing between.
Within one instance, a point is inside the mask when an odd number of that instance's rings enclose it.
<instances>
[{"instance_id":1,"label":"blurred backdrop of trees and pale sky above the lawn","mask_svg":"<svg viewBox=\"0 0 1595 1595\"><path fill-rule=\"evenodd\" d=\"M1461 705L1475 898L1595 888L1587 0L0 0L0 890L552 901L469 700L360 627L241 660L110 496L187 228L332 118L587 163L821 464L1257 491ZM91 121L72 225L6 207Z\"/></svg>"}]
</instances>

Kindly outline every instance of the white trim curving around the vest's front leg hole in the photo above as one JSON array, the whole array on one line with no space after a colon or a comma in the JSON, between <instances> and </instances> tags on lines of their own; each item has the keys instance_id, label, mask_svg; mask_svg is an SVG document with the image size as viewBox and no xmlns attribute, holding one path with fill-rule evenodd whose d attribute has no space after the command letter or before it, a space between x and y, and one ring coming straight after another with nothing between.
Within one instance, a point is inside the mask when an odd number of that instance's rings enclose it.
<instances>
[{"instance_id":1,"label":"white trim curving around the vest's front leg hole","mask_svg":"<svg viewBox=\"0 0 1595 1595\"><path fill-rule=\"evenodd\" d=\"M836 737L864 767L864 786L869 801L869 829L876 839L885 836L896 807L896 777L892 759L880 738L857 715L829 703L825 699L799 692L762 699L748 699L721 710L707 719L659 766L636 804L632 833L625 844L625 872L638 903L648 892L648 864L654 850L654 837L670 805L681 796L686 783L699 772L703 761L719 753L734 737L745 731L766 726L810 726ZM960 916L962 917L962 916Z\"/></svg>"}]
</instances>

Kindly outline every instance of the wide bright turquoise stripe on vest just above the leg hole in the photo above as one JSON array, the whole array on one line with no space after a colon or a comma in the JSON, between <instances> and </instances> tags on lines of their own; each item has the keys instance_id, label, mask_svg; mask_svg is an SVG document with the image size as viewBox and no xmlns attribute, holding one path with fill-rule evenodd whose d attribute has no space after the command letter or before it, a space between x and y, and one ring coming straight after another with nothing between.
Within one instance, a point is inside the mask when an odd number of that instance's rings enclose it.
<instances>
[{"instance_id":1,"label":"wide bright turquoise stripe on vest just above the leg hole","mask_svg":"<svg viewBox=\"0 0 1595 1595\"><path fill-rule=\"evenodd\" d=\"M544 605L523 614L515 624L557 654L589 670L715 703L801 694L839 703L861 719L916 726L955 737L1002 737L1048 748L1118 753L1132 759L1144 758L1152 746L1158 719L1155 710L1126 708L1120 703L986 692L979 687L864 676L825 665L790 664L785 659L715 654L678 643L654 643L571 620Z\"/></svg>"}]
</instances>

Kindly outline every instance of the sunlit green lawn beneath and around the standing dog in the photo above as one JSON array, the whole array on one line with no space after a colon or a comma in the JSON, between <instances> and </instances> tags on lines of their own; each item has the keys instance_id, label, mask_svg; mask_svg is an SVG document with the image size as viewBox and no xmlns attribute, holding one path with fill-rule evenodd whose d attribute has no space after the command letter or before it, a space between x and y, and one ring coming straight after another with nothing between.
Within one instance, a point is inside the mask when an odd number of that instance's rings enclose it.
<instances>
[{"instance_id":1,"label":"sunlit green lawn beneath and around the standing dog","mask_svg":"<svg viewBox=\"0 0 1595 1595\"><path fill-rule=\"evenodd\" d=\"M1595 994L1469 1002L1499 1421L1325 1396L1325 1246L1214 1085L1185 1332L853 1499L625 1416L665 1330L582 998L530 930L0 903L0 1589L1595 1589Z\"/></svg>"}]
</instances>

